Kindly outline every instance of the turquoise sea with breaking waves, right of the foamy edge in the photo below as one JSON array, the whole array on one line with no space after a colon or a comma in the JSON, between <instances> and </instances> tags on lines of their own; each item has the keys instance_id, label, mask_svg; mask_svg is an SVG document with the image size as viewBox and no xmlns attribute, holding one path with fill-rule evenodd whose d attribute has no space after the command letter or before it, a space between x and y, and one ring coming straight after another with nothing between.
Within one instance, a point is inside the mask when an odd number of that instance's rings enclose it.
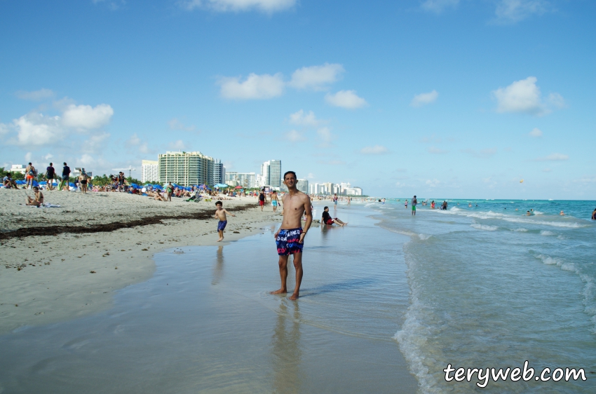
<instances>
[{"instance_id":1,"label":"turquoise sea with breaking waves, right of the foamy edge","mask_svg":"<svg viewBox=\"0 0 596 394\"><path fill-rule=\"evenodd\" d=\"M596 392L593 201L404 200L370 204L378 225L409 236L412 291L395 341L424 393L481 390L443 369L585 369L586 381L489 382L495 393ZM437 201L437 207L442 200ZM469 206L471 203L471 207ZM527 216L533 210L534 215ZM559 215L563 210L566 215ZM451 373L453 376L453 372Z\"/></svg>"}]
</instances>

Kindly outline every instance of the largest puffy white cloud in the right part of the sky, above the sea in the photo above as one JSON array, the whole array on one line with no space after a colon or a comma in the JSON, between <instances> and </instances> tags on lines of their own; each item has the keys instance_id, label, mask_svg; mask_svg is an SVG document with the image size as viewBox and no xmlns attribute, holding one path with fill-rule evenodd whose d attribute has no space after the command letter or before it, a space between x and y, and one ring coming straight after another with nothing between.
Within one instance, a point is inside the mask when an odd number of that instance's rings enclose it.
<instances>
[{"instance_id":1,"label":"largest puffy white cloud in the right part of the sky, above the sea","mask_svg":"<svg viewBox=\"0 0 596 394\"><path fill-rule=\"evenodd\" d=\"M558 93L551 93L544 102L536 81L538 79L535 76L529 76L506 88L494 90L492 94L497 102L496 111L541 116L550 113L550 107L564 107L563 97Z\"/></svg>"}]
</instances>

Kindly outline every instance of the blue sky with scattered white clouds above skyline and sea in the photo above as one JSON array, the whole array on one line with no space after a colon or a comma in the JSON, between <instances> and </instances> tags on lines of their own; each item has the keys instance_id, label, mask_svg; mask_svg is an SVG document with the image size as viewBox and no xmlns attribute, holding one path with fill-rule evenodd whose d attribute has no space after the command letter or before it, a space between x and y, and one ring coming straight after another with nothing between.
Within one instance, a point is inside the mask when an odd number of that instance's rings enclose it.
<instances>
[{"instance_id":1,"label":"blue sky with scattered white clouds above skyline and sea","mask_svg":"<svg viewBox=\"0 0 596 394\"><path fill-rule=\"evenodd\" d=\"M0 0L0 165L140 178L201 151L386 198L595 200L595 18L589 0Z\"/></svg>"}]
</instances>

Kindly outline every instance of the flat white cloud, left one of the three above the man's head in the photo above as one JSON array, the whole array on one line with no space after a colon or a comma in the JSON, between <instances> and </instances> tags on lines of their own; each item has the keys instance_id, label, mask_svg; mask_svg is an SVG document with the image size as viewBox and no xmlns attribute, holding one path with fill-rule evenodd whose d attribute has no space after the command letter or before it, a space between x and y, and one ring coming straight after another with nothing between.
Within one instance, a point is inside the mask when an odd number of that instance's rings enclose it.
<instances>
[{"instance_id":1,"label":"flat white cloud, left one of the three above the man's head","mask_svg":"<svg viewBox=\"0 0 596 394\"><path fill-rule=\"evenodd\" d=\"M283 94L283 77L280 73L275 75L250 74L241 82L239 77L224 77L219 79L222 86L221 95L227 99L250 100L269 99Z\"/></svg>"}]
</instances>

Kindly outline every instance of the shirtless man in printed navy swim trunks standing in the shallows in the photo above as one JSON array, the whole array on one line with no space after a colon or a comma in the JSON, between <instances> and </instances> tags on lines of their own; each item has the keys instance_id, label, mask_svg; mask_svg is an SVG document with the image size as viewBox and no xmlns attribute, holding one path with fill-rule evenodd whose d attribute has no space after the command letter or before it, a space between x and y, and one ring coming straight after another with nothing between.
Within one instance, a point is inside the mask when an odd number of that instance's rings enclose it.
<instances>
[{"instance_id":1,"label":"shirtless man in printed navy swim trunks standing in the shallows","mask_svg":"<svg viewBox=\"0 0 596 394\"><path fill-rule=\"evenodd\" d=\"M281 278L281 288L271 294L287 293L287 260L290 254L294 254L294 268L296 269L296 287L294 294L290 297L292 301L299 297L300 283L302 283L302 247L304 246L304 236L309 231L313 222L313 212L311 210L311 199L307 194L302 193L296 188L296 172L288 171L283 175L283 184L287 186L287 193L282 197L283 202L283 222L280 229L275 234L277 252L279 254L279 276ZM302 214L306 212L306 224L302 229Z\"/></svg>"}]
</instances>

